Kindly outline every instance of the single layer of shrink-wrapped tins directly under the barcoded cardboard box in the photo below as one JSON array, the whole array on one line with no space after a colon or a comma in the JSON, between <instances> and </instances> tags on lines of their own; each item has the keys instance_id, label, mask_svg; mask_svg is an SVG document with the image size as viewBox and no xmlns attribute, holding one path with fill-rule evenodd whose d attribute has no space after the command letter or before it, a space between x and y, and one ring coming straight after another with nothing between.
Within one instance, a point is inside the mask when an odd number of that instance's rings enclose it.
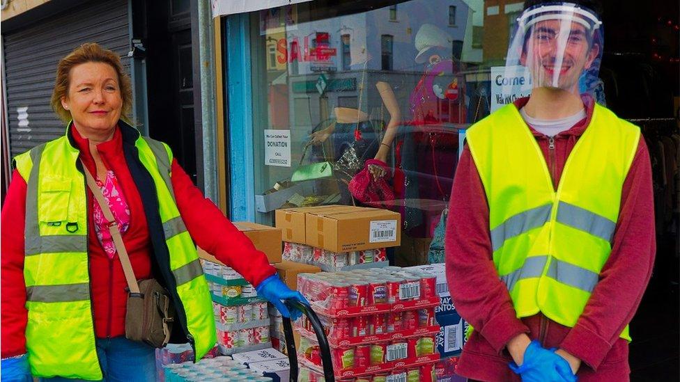
<instances>
[{"instance_id":1,"label":"single layer of shrink-wrapped tins directly under the barcoded cardboard box","mask_svg":"<svg viewBox=\"0 0 680 382\"><path fill-rule=\"evenodd\" d=\"M387 266L385 248L333 252L305 244L284 242L284 260L316 265L323 271L337 272Z\"/></svg>"}]
</instances>

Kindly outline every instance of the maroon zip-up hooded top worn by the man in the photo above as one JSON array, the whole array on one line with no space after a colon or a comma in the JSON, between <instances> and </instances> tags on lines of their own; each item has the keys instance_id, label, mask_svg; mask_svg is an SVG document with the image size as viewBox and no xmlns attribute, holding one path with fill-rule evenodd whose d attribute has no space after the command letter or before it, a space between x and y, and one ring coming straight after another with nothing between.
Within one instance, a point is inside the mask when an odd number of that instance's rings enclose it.
<instances>
[{"instance_id":1,"label":"maroon zip-up hooded top worn by the man","mask_svg":"<svg viewBox=\"0 0 680 382\"><path fill-rule=\"evenodd\" d=\"M516 106L521 108L527 101L520 99ZM555 136L554 184L559 183L564 162L592 116L592 99L586 97L584 103L587 118ZM548 162L548 137L534 129L532 133ZM576 325L562 326L540 313L518 319L491 260L486 193L465 147L451 191L445 245L451 298L475 329L463 347L459 374L481 381L520 381L508 367L511 357L505 346L516 335L527 333L543 347L562 348L580 358L581 382L628 379L628 342L619 334L640 304L656 250L651 166L642 138L624 182L620 211L612 252Z\"/></svg>"}]
</instances>

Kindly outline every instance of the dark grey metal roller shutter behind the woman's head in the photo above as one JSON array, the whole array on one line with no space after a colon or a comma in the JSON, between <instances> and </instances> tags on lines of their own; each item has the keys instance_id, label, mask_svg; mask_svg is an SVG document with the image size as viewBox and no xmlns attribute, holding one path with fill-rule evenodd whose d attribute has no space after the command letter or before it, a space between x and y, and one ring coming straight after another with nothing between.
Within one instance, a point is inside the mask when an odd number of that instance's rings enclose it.
<instances>
[{"instance_id":1,"label":"dark grey metal roller shutter behind the woman's head","mask_svg":"<svg viewBox=\"0 0 680 382\"><path fill-rule=\"evenodd\" d=\"M56 65L84 42L121 55L130 71L127 1L92 1L3 35L10 155L58 138L63 123L49 106Z\"/></svg>"}]
</instances>

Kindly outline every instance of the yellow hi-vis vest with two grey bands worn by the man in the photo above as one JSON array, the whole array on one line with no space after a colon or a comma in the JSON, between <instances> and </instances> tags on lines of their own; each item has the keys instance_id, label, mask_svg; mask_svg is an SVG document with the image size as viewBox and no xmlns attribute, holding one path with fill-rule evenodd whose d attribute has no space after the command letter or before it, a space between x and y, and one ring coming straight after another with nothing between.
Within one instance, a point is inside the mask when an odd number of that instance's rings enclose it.
<instances>
[{"instance_id":1,"label":"yellow hi-vis vest with two grey bands worn by the man","mask_svg":"<svg viewBox=\"0 0 680 382\"><path fill-rule=\"evenodd\" d=\"M557 191L513 104L470 127L466 138L488 200L493 262L517 317L542 312L573 327L612 250L640 128L596 105ZM631 340L628 326L621 337Z\"/></svg>"}]
</instances>

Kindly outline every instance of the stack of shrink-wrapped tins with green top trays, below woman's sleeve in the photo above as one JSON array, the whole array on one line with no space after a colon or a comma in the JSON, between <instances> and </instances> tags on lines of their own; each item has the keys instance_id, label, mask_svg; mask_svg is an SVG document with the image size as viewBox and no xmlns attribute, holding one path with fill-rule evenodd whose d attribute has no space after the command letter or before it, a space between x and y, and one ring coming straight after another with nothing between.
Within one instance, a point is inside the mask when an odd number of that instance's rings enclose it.
<instances>
[{"instance_id":1,"label":"stack of shrink-wrapped tins with green top trays, below woman's sleeve","mask_svg":"<svg viewBox=\"0 0 680 382\"><path fill-rule=\"evenodd\" d=\"M268 303L229 266L201 260L217 326L217 344L229 355L271 347Z\"/></svg>"}]
</instances>

